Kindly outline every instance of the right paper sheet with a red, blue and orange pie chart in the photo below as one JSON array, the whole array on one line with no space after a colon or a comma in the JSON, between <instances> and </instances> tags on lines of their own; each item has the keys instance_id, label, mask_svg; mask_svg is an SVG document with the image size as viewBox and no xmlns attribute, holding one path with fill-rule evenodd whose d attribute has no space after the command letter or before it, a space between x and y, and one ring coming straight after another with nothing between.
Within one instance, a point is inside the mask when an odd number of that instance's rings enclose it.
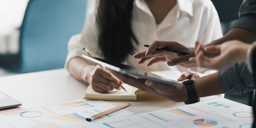
<instances>
[{"instance_id":1,"label":"right paper sheet with a red, blue and orange pie chart","mask_svg":"<svg viewBox=\"0 0 256 128\"><path fill-rule=\"evenodd\" d=\"M176 108L138 114L165 127L173 128L251 128L252 107L218 99Z\"/></svg>"}]
</instances>

